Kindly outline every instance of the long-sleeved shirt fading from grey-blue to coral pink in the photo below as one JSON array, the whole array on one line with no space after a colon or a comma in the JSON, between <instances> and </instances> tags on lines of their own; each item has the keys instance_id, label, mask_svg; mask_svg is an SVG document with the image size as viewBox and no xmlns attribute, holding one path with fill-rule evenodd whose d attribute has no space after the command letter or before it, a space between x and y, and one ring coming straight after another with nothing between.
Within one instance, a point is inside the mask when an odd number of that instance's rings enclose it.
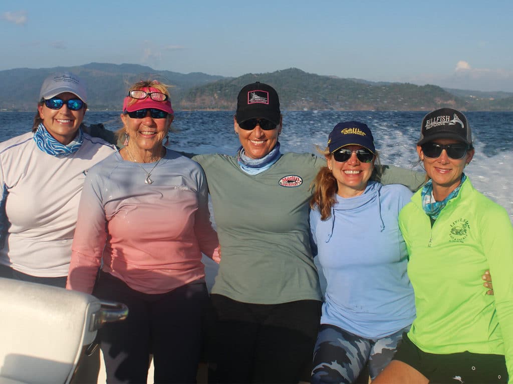
<instances>
[{"instance_id":1,"label":"long-sleeved shirt fading from grey-blue to coral pink","mask_svg":"<svg viewBox=\"0 0 513 384\"><path fill-rule=\"evenodd\" d=\"M103 271L143 293L165 293L204 278L202 252L212 257L219 242L203 170L168 149L151 172L153 184L145 178L140 164L118 152L90 169L67 288L90 293L102 259Z\"/></svg>"}]
</instances>

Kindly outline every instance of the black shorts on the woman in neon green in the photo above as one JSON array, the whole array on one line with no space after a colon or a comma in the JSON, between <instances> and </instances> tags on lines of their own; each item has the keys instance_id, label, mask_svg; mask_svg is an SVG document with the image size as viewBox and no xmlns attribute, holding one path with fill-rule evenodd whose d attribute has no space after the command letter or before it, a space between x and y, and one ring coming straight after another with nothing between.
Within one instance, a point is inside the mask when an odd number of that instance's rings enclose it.
<instances>
[{"instance_id":1,"label":"black shorts on the woman in neon green","mask_svg":"<svg viewBox=\"0 0 513 384\"><path fill-rule=\"evenodd\" d=\"M393 360L399 360L422 373L432 383L458 382L506 383L508 373L504 355L482 353L435 354L424 352L411 342L407 334Z\"/></svg>"}]
</instances>

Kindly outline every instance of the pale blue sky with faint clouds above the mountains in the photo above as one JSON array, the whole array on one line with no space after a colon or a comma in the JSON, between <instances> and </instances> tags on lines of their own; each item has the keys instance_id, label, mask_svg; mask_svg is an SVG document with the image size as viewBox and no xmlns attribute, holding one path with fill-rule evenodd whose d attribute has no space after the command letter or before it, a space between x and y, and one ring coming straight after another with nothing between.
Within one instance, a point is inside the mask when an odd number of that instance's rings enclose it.
<instances>
[{"instance_id":1,"label":"pale blue sky with faint clouds above the mountains","mask_svg":"<svg viewBox=\"0 0 513 384\"><path fill-rule=\"evenodd\" d=\"M240 76L291 67L513 92L513 2L85 0L0 4L0 70L89 62Z\"/></svg>"}]
</instances>

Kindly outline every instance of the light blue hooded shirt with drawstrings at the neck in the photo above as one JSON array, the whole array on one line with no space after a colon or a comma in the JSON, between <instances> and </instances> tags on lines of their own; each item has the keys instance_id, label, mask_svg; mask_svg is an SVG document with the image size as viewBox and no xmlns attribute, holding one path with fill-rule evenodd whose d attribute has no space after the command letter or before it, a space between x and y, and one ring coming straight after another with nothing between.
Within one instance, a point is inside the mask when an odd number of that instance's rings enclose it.
<instances>
[{"instance_id":1,"label":"light blue hooded shirt with drawstrings at the neck","mask_svg":"<svg viewBox=\"0 0 513 384\"><path fill-rule=\"evenodd\" d=\"M327 281L321 324L378 339L413 322L415 299L398 224L399 211L411 196L403 185L369 181L360 196L337 195L326 221L317 209L310 212Z\"/></svg>"}]
</instances>

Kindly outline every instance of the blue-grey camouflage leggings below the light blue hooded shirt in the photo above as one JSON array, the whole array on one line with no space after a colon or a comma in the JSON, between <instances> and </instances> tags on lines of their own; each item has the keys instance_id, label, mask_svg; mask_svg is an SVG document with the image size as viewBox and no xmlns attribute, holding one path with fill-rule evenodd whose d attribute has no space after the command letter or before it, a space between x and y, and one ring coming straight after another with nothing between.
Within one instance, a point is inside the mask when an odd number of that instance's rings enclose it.
<instances>
[{"instance_id":1,"label":"blue-grey camouflage leggings below the light blue hooded shirt","mask_svg":"<svg viewBox=\"0 0 513 384\"><path fill-rule=\"evenodd\" d=\"M403 332L409 326L379 339L367 339L337 326L321 324L313 350L312 384L352 383L369 365L374 379L390 362Z\"/></svg>"}]
</instances>

